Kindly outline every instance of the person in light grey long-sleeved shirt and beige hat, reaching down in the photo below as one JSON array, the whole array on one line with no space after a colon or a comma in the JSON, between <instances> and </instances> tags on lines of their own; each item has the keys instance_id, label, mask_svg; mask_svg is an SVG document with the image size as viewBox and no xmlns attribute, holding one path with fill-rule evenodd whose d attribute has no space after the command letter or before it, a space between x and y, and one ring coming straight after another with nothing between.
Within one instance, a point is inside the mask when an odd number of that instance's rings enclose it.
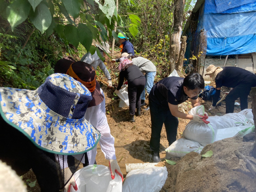
<instances>
[{"instance_id":1,"label":"person in light grey long-sleeved shirt and beige hat, reaching down","mask_svg":"<svg viewBox=\"0 0 256 192\"><path fill-rule=\"evenodd\" d=\"M105 52L110 53L109 44L107 43L102 42L102 45L96 44L96 47L99 48L102 57L105 57ZM97 70L97 67L99 66L104 75L107 77L107 83L109 84L108 87L112 87L112 79L110 77L109 71L107 70L107 67L104 65L103 61L100 59L96 51L93 55L91 55L90 52L86 53L82 57L81 61L90 64L95 70Z\"/></svg>"}]
</instances>

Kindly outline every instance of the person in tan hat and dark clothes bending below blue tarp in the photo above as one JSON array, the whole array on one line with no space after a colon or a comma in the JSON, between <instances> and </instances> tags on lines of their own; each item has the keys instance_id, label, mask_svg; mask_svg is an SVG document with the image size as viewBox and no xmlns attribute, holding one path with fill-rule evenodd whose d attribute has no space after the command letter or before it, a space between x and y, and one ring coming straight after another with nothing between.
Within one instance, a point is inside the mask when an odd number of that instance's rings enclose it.
<instances>
[{"instance_id":1,"label":"person in tan hat and dark clothes bending below blue tarp","mask_svg":"<svg viewBox=\"0 0 256 192\"><path fill-rule=\"evenodd\" d=\"M248 108L248 95L251 87L256 87L256 75L239 67L216 67L209 65L205 75L209 75L210 79L216 83L216 94L214 95L211 109L216 108L216 103L221 93L221 87L233 88L226 96L226 113L233 113L235 108L235 100L240 98L241 110Z\"/></svg>"}]
</instances>

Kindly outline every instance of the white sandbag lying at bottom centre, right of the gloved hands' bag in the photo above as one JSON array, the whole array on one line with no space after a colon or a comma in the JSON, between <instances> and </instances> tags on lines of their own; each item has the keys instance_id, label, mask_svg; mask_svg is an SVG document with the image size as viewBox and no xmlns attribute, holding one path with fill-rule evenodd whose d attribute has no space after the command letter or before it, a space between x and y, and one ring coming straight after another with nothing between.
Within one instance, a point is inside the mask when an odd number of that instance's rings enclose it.
<instances>
[{"instance_id":1,"label":"white sandbag lying at bottom centre, right of the gloved hands' bag","mask_svg":"<svg viewBox=\"0 0 256 192\"><path fill-rule=\"evenodd\" d=\"M167 176L166 167L132 170L125 177L123 192L159 192Z\"/></svg>"}]
</instances>

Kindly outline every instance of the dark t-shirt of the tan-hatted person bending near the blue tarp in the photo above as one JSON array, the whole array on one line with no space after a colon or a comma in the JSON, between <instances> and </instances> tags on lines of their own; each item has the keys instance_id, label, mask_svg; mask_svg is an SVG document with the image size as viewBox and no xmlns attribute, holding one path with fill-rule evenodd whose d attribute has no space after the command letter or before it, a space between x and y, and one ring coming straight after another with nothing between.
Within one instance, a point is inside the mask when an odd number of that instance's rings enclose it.
<instances>
[{"instance_id":1,"label":"dark t-shirt of the tan-hatted person bending near the blue tarp","mask_svg":"<svg viewBox=\"0 0 256 192\"><path fill-rule=\"evenodd\" d=\"M234 88L241 83L249 83L256 80L256 75L239 67L223 67L215 78L216 88L225 86Z\"/></svg>"}]
</instances>

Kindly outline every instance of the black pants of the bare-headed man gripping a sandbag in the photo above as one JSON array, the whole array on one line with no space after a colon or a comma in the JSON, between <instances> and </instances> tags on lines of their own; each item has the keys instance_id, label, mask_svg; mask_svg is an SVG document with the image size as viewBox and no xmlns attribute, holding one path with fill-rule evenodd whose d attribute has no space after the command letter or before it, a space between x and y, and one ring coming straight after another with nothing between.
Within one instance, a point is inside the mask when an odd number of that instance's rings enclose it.
<instances>
[{"instance_id":1,"label":"black pants of the bare-headed man gripping a sandbag","mask_svg":"<svg viewBox=\"0 0 256 192\"><path fill-rule=\"evenodd\" d=\"M160 137L163 124L165 124L165 130L169 146L176 141L177 128L179 120L174 117L170 112L170 109L163 107L151 99L149 94L149 108L151 116L151 138L150 138L150 150L158 152L160 150Z\"/></svg>"}]
</instances>

